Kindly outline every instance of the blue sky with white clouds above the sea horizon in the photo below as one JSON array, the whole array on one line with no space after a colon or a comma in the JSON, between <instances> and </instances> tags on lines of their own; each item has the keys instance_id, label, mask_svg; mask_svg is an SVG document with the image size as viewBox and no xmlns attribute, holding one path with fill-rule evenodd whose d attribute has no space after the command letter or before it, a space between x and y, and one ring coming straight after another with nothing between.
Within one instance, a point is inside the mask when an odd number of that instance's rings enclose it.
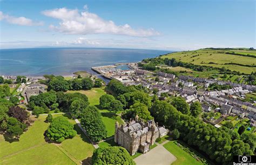
<instances>
[{"instance_id":1,"label":"blue sky with white clouds above the sea horizon","mask_svg":"<svg viewBox=\"0 0 256 165\"><path fill-rule=\"evenodd\" d=\"M0 0L0 49L256 47L255 1Z\"/></svg>"}]
</instances>

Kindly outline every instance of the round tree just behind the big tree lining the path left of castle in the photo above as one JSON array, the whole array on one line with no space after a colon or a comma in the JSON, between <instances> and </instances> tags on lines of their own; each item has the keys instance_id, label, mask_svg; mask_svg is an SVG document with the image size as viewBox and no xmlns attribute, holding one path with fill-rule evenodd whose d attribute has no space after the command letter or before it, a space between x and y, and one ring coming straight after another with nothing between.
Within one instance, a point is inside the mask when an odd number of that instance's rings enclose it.
<instances>
[{"instance_id":1,"label":"round tree just behind the big tree lining the path left of castle","mask_svg":"<svg viewBox=\"0 0 256 165\"><path fill-rule=\"evenodd\" d=\"M84 113L84 109L89 105L89 102L86 102L82 99L76 99L72 101L69 111L72 116L75 118L80 118L82 113Z\"/></svg>"}]
</instances>

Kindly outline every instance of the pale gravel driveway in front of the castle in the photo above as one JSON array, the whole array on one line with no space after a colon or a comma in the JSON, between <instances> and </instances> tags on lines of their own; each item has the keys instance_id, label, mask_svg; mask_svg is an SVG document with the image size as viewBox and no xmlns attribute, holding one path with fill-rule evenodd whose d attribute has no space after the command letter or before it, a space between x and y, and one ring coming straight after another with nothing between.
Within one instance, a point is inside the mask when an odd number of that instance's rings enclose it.
<instances>
[{"instance_id":1,"label":"pale gravel driveway in front of the castle","mask_svg":"<svg viewBox=\"0 0 256 165\"><path fill-rule=\"evenodd\" d=\"M138 165L158 164L170 165L177 158L163 147L163 143L134 159Z\"/></svg>"}]
</instances>

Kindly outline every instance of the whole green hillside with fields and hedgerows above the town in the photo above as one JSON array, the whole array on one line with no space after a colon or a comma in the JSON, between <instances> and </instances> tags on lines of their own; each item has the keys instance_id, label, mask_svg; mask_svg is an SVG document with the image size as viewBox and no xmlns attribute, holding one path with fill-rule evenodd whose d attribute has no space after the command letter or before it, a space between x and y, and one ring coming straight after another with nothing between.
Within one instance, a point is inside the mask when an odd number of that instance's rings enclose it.
<instances>
[{"instance_id":1,"label":"whole green hillside with fields and hedgerows above the town","mask_svg":"<svg viewBox=\"0 0 256 165\"><path fill-rule=\"evenodd\" d=\"M249 49L200 49L174 52L161 58L175 58L196 65L225 67L231 71L246 74L256 72L256 51Z\"/></svg>"}]
</instances>

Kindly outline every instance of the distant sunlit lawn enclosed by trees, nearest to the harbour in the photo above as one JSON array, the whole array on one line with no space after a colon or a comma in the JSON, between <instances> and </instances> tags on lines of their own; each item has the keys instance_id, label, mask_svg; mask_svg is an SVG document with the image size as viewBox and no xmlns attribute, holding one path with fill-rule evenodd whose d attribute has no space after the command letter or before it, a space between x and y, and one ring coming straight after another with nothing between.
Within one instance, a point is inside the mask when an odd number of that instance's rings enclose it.
<instances>
[{"instance_id":1,"label":"distant sunlit lawn enclosed by trees, nearest to the harbour","mask_svg":"<svg viewBox=\"0 0 256 165\"><path fill-rule=\"evenodd\" d=\"M99 98L106 94L106 92L104 91L104 88L92 88L91 90L87 90L87 91L68 91L68 93L82 93L85 94L90 102L90 105L99 105Z\"/></svg>"}]
</instances>

